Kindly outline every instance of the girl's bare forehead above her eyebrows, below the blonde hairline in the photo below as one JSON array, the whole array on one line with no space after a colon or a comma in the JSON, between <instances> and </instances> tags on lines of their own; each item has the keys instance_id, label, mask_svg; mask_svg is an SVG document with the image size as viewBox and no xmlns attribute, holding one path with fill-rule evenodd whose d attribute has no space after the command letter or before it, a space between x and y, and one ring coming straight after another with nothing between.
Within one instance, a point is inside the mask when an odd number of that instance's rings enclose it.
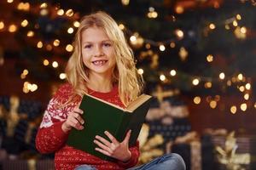
<instances>
[{"instance_id":1,"label":"girl's bare forehead above her eyebrows, below the blonde hairline","mask_svg":"<svg viewBox=\"0 0 256 170\"><path fill-rule=\"evenodd\" d=\"M106 31L100 27L89 27L81 33L82 42L100 42L110 40Z\"/></svg>"}]
</instances>

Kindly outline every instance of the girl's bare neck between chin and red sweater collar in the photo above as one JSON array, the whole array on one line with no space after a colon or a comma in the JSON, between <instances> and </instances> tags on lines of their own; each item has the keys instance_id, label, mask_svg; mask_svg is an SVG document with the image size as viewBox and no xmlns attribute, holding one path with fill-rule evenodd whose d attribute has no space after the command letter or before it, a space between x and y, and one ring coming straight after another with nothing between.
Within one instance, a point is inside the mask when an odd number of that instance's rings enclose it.
<instances>
[{"instance_id":1,"label":"girl's bare neck between chin and red sweater collar","mask_svg":"<svg viewBox=\"0 0 256 170\"><path fill-rule=\"evenodd\" d=\"M111 77L101 75L90 75L89 82L86 85L88 88L102 93L108 93L113 88Z\"/></svg>"}]
</instances>

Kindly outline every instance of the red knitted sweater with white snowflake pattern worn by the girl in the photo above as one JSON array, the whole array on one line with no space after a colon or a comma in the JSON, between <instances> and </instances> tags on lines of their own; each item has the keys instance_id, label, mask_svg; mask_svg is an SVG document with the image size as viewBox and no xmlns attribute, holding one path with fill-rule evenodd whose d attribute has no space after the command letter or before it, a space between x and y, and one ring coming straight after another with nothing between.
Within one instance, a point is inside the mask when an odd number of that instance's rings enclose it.
<instances>
[{"instance_id":1,"label":"red knitted sweater with white snowflake pattern worn by the girl","mask_svg":"<svg viewBox=\"0 0 256 170\"><path fill-rule=\"evenodd\" d=\"M74 107L81 101L79 97L74 103L65 107L58 107L67 101L68 96L73 93L72 86L68 83L59 88L54 97L49 101L49 105L44 112L43 121L38 130L36 138L37 149L41 153L55 152L55 169L71 170L79 165L93 165L99 170L125 169L134 167L137 164L139 149L138 143L131 147L131 159L127 162L121 161L103 161L102 159L92 156L82 150L76 150L66 143L68 133L64 133L61 129L62 123L67 119L68 113L73 111ZM97 98L104 99L115 105L124 107L119 99L118 88L114 87L109 93L92 92L89 94ZM86 113L85 113L86 114ZM86 120L85 120L86 122ZM86 123L85 127L86 128Z\"/></svg>"}]
</instances>

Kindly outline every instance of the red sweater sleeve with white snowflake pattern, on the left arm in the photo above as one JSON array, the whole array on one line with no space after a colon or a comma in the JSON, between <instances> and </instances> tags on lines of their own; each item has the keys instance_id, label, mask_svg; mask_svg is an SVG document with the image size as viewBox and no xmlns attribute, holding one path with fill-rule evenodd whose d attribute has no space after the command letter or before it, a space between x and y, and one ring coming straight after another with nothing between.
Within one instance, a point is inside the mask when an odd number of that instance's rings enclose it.
<instances>
[{"instance_id":1,"label":"red sweater sleeve with white snowflake pattern, on the left arm","mask_svg":"<svg viewBox=\"0 0 256 170\"><path fill-rule=\"evenodd\" d=\"M70 86L63 85L49 101L49 105L44 111L43 120L36 137L36 147L41 153L60 150L67 141L68 133L62 131L61 125L76 104L67 106L61 106L61 104L67 102L70 92Z\"/></svg>"}]
</instances>

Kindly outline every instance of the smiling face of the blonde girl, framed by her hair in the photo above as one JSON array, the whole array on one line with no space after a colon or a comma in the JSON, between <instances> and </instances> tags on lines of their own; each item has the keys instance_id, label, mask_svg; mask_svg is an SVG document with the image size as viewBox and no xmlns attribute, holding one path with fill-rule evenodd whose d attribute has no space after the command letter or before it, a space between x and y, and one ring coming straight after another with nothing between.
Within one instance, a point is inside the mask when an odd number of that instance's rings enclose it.
<instances>
[{"instance_id":1,"label":"smiling face of the blonde girl, framed by her hair","mask_svg":"<svg viewBox=\"0 0 256 170\"><path fill-rule=\"evenodd\" d=\"M84 30L82 36L82 56L84 65L89 69L89 75L112 75L116 64L113 42L102 28L90 27Z\"/></svg>"}]
</instances>

